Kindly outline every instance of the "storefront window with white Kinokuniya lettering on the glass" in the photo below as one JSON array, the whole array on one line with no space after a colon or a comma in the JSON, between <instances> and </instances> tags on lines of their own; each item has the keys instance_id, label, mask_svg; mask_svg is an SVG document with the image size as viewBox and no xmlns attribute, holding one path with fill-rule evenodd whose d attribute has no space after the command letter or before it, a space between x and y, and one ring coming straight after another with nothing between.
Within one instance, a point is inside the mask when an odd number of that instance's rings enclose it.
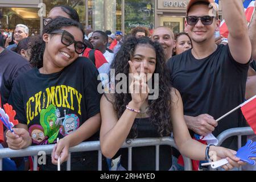
<instances>
[{"instance_id":1,"label":"storefront window with white Kinokuniya lettering on the glass","mask_svg":"<svg viewBox=\"0 0 256 182\"><path fill-rule=\"evenodd\" d=\"M130 34L134 27L154 29L154 0L125 1L125 33Z\"/></svg>"}]
</instances>

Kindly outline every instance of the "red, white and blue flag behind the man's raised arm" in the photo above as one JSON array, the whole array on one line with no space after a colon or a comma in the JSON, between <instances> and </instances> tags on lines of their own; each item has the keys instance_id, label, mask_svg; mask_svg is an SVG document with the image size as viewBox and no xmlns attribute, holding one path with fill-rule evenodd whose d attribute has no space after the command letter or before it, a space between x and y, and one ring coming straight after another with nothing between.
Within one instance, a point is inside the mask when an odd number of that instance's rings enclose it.
<instances>
[{"instance_id":1,"label":"red, white and blue flag behind the man's raised arm","mask_svg":"<svg viewBox=\"0 0 256 182\"><path fill-rule=\"evenodd\" d=\"M215 3L218 5L218 0L216 0ZM245 0L243 2L243 7L245 9L245 16L248 23L250 23L251 16L253 15L254 3L255 1L252 1L252 0ZM222 20L220 24L220 34L225 38L228 38L229 30L228 30L228 27L226 26L225 20Z\"/></svg>"}]
</instances>

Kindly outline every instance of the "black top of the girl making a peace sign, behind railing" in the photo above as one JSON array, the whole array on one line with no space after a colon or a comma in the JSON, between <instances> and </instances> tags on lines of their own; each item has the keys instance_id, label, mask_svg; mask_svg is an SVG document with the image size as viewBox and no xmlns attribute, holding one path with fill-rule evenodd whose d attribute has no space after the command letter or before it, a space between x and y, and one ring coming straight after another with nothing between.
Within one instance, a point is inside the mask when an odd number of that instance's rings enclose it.
<instances>
[{"instance_id":1,"label":"black top of the girl making a peace sign, behind railing","mask_svg":"<svg viewBox=\"0 0 256 182\"><path fill-rule=\"evenodd\" d=\"M150 122L150 118L136 118L134 125L137 128L137 138L158 138L158 127ZM131 133L129 135L132 135ZM166 136L165 136L166 137ZM121 165L128 169L128 149L121 148ZM168 171L172 165L171 146L159 147L159 169ZM132 152L132 170L145 171L155 170L155 146L134 147Z\"/></svg>"}]
</instances>

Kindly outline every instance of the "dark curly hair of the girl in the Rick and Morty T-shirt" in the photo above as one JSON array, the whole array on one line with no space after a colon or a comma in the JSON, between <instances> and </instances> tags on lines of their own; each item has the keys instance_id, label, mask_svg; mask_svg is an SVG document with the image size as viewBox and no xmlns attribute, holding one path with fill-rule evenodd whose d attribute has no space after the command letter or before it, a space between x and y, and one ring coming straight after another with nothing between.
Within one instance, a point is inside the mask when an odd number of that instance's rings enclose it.
<instances>
[{"instance_id":1,"label":"dark curly hair of the girl in the Rick and Morty T-shirt","mask_svg":"<svg viewBox=\"0 0 256 182\"><path fill-rule=\"evenodd\" d=\"M51 32L55 30L60 30L63 27L77 27L81 30L82 35L84 35L84 30L82 28L81 23L64 17L58 17L51 22L49 22L43 29L43 35L44 34L51 34ZM84 38L83 38L84 39ZM30 63L33 67L36 68L42 68L43 67L43 55L44 50L46 49L46 43L43 41L43 36L38 37L33 44L31 45L31 57L30 57Z\"/></svg>"}]
</instances>

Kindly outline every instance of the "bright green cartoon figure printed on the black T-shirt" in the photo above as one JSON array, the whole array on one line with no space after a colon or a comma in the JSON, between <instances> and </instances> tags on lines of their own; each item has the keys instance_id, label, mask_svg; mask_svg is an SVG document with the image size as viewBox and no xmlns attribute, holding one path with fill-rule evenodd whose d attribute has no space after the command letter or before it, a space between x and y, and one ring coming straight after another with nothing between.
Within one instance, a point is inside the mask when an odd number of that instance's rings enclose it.
<instances>
[{"instance_id":1,"label":"bright green cartoon figure printed on the black T-shirt","mask_svg":"<svg viewBox=\"0 0 256 182\"><path fill-rule=\"evenodd\" d=\"M40 113L40 125L44 129L44 135L48 136L48 142L53 143L59 134L59 125L56 125L56 106L49 105L47 109L42 109Z\"/></svg>"}]
</instances>

